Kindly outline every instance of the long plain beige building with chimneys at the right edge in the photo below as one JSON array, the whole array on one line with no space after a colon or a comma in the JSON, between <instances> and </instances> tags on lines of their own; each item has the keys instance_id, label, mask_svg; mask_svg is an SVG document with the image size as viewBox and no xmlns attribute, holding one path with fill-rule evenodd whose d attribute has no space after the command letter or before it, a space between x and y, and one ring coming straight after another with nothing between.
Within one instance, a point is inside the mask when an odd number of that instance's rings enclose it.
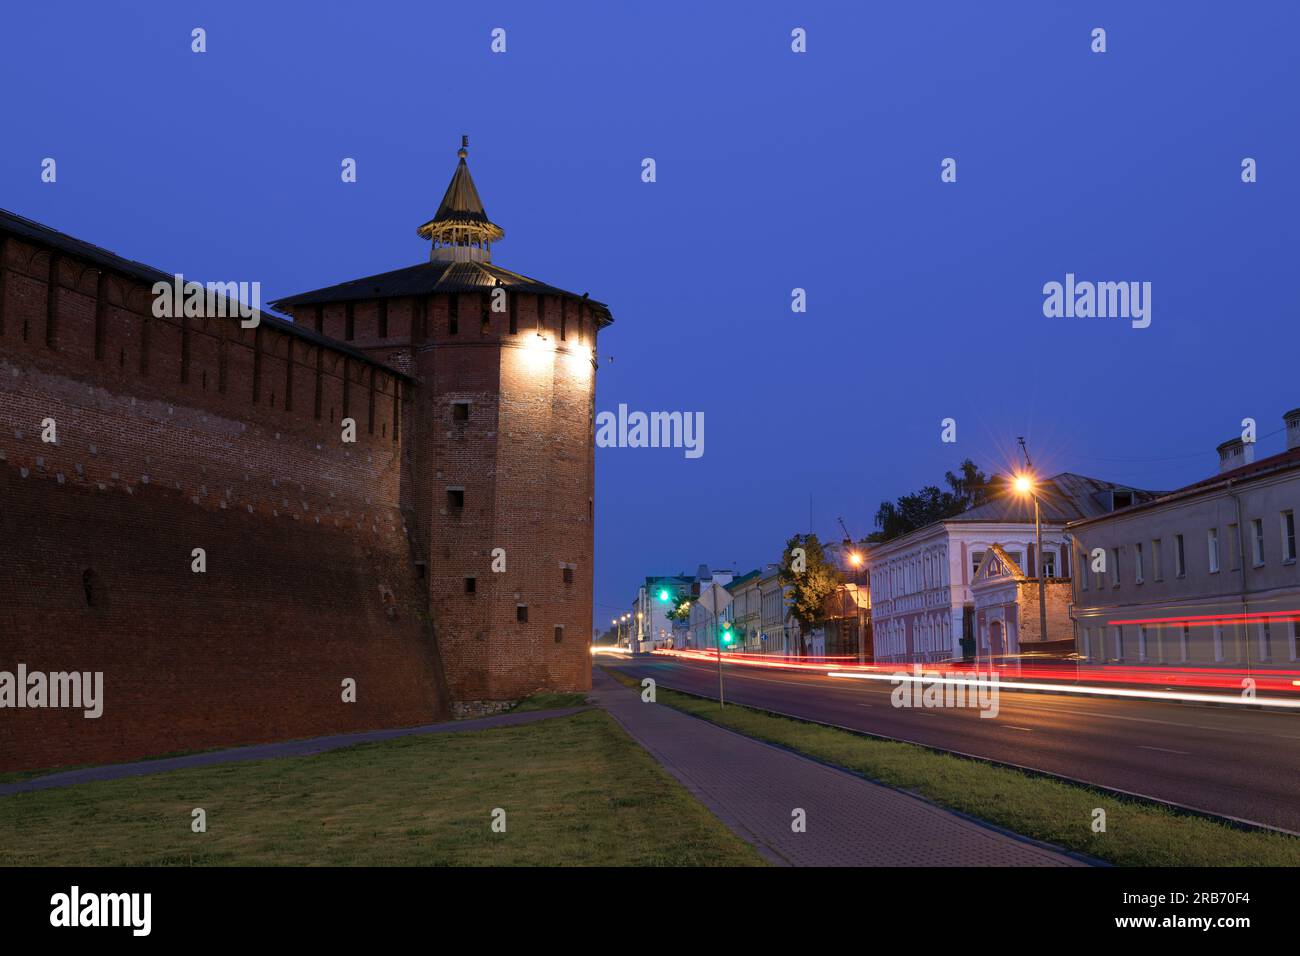
<instances>
[{"instance_id":1,"label":"long plain beige building with chimneys at the right edge","mask_svg":"<svg viewBox=\"0 0 1300 956\"><path fill-rule=\"evenodd\" d=\"M1253 444L1225 442L1214 477L1069 525L1088 568L1074 581L1080 656L1204 666L1300 659L1300 408L1284 421L1280 454L1256 462ZM1105 566L1093 571L1098 551Z\"/></svg>"}]
</instances>

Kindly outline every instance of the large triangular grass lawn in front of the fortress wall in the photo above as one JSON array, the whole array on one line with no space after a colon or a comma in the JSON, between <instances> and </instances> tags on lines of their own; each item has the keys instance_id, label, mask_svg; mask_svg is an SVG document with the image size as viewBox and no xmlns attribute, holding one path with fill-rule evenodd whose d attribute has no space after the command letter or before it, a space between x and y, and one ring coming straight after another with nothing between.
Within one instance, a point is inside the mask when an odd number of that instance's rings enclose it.
<instances>
[{"instance_id":1,"label":"large triangular grass lawn in front of the fortress wall","mask_svg":"<svg viewBox=\"0 0 1300 956\"><path fill-rule=\"evenodd\" d=\"M263 864L763 861L599 710L0 797L0 865Z\"/></svg>"}]
</instances>

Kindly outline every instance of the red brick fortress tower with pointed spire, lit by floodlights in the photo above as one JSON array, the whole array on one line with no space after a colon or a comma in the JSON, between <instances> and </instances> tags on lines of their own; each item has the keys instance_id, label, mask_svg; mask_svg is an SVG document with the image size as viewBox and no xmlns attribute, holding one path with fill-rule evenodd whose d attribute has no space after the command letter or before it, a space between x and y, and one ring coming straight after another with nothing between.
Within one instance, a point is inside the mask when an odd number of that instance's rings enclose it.
<instances>
[{"instance_id":1,"label":"red brick fortress tower with pointed spire, lit by floodlights","mask_svg":"<svg viewBox=\"0 0 1300 956\"><path fill-rule=\"evenodd\" d=\"M276 303L415 377L403 514L460 713L590 687L595 338L612 321L491 263L504 232L467 148L419 229L428 263Z\"/></svg>"}]
</instances>

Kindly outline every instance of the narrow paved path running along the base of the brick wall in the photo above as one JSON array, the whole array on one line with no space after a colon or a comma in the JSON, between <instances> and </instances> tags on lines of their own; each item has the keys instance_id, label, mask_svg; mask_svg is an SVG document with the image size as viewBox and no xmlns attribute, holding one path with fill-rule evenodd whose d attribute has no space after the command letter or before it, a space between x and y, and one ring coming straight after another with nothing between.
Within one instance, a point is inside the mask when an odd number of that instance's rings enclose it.
<instances>
[{"instance_id":1,"label":"narrow paved path running along the base of the brick wall","mask_svg":"<svg viewBox=\"0 0 1300 956\"><path fill-rule=\"evenodd\" d=\"M162 760L143 760L135 763L107 763L98 767L84 767L81 770L65 770L57 774L34 777L30 780L0 784L0 796L10 793L25 793L34 790L49 790L52 787L72 787L77 783L92 783L95 780L116 780L122 777L140 777L143 774L162 774L168 770L188 770L192 767L213 766L216 763L237 763L246 760L270 760L273 757L306 757L313 753L337 750L341 747L355 747L356 744L372 744L380 740L393 740L394 737L408 737L416 734L459 734L469 730L491 730L493 727L512 727L516 723L532 723L545 721L550 717L568 717L588 708L559 708L556 710L525 710L521 714L497 714L495 717L481 717L474 721L447 721L446 723L426 723L421 727L399 727L396 730L372 730L358 734L333 734L324 737L306 737L303 740L285 740L276 744L255 744L252 747L235 747L228 750L207 750L204 753L190 753L183 757L164 757Z\"/></svg>"}]
</instances>

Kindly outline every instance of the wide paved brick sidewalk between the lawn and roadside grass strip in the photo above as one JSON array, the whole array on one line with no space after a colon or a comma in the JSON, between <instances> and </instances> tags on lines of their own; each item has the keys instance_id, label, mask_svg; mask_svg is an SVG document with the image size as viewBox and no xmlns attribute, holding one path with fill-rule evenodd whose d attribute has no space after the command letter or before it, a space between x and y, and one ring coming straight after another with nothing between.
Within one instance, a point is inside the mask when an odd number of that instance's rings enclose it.
<instances>
[{"instance_id":1,"label":"wide paved brick sidewalk between the lawn and roadside grass strip","mask_svg":"<svg viewBox=\"0 0 1300 956\"><path fill-rule=\"evenodd\" d=\"M789 866L1086 866L641 695L594 669L592 698L719 819ZM794 808L806 832L790 829Z\"/></svg>"}]
</instances>

